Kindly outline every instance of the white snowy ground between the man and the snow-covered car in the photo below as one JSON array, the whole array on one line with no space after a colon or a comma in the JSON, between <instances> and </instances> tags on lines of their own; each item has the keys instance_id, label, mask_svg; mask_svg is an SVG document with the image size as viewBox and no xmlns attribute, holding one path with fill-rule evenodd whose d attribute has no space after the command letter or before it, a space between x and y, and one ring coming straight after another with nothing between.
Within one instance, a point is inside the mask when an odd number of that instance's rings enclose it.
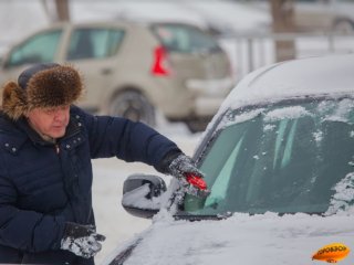
<instances>
[{"instance_id":1,"label":"white snowy ground between the man and the snow-covered car","mask_svg":"<svg viewBox=\"0 0 354 265\"><path fill-rule=\"evenodd\" d=\"M200 138L200 134L190 134L181 124L160 123L157 129L177 142L189 156L192 155ZM117 245L132 239L152 223L150 220L134 218L124 211L121 205L123 181L136 172L162 174L144 163L127 163L114 158L94 160L93 169L93 205L97 232L106 236L103 250L96 256L96 264L100 264ZM168 183L169 179L167 177L165 179Z\"/></svg>"}]
</instances>

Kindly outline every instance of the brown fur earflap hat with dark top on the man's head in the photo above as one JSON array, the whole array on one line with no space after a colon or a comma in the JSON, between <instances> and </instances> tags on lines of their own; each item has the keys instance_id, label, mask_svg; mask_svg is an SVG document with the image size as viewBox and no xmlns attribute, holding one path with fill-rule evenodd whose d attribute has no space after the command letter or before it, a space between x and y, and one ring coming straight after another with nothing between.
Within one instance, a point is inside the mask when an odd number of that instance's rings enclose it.
<instances>
[{"instance_id":1,"label":"brown fur earflap hat with dark top on the man's head","mask_svg":"<svg viewBox=\"0 0 354 265\"><path fill-rule=\"evenodd\" d=\"M18 83L9 82L2 92L2 110L18 119L33 108L70 105L83 92L79 72L70 65L35 64L24 70Z\"/></svg>"}]
</instances>

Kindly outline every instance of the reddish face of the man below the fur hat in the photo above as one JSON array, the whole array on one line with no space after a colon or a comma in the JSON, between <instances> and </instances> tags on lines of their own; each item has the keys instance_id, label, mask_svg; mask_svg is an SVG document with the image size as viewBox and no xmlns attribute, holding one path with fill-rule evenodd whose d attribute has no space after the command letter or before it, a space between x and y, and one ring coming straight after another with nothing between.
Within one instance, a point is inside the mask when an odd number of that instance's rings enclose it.
<instances>
[{"instance_id":1,"label":"reddish face of the man below the fur hat","mask_svg":"<svg viewBox=\"0 0 354 265\"><path fill-rule=\"evenodd\" d=\"M30 125L43 137L60 138L65 135L70 106L34 108L27 115Z\"/></svg>"}]
</instances>

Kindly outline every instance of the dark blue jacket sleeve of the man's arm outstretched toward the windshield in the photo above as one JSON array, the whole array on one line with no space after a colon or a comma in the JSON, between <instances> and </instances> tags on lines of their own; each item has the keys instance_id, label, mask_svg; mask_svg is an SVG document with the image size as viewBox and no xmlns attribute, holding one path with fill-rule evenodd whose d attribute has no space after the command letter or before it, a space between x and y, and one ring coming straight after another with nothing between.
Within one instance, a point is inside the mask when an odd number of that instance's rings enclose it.
<instances>
[{"instance_id":1,"label":"dark blue jacket sleeve of the man's arm outstretched toward the windshield","mask_svg":"<svg viewBox=\"0 0 354 265\"><path fill-rule=\"evenodd\" d=\"M85 114L92 158L116 156L125 161L159 165L165 156L181 152L175 142L143 123Z\"/></svg>"}]
</instances>

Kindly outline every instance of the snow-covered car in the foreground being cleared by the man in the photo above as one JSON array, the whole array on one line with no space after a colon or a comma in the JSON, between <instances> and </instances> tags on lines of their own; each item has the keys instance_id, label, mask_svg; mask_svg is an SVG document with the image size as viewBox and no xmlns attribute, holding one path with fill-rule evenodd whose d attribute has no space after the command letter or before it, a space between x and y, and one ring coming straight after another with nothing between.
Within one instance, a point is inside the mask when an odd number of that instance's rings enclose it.
<instances>
[{"instance_id":1,"label":"snow-covered car in the foreground being cleared by the man","mask_svg":"<svg viewBox=\"0 0 354 265\"><path fill-rule=\"evenodd\" d=\"M194 155L210 195L185 194L177 180L164 192L160 178L131 176L124 208L159 212L105 264L298 265L314 254L353 264L353 68L354 55L335 55L247 75ZM333 243L341 245L317 252Z\"/></svg>"}]
</instances>

